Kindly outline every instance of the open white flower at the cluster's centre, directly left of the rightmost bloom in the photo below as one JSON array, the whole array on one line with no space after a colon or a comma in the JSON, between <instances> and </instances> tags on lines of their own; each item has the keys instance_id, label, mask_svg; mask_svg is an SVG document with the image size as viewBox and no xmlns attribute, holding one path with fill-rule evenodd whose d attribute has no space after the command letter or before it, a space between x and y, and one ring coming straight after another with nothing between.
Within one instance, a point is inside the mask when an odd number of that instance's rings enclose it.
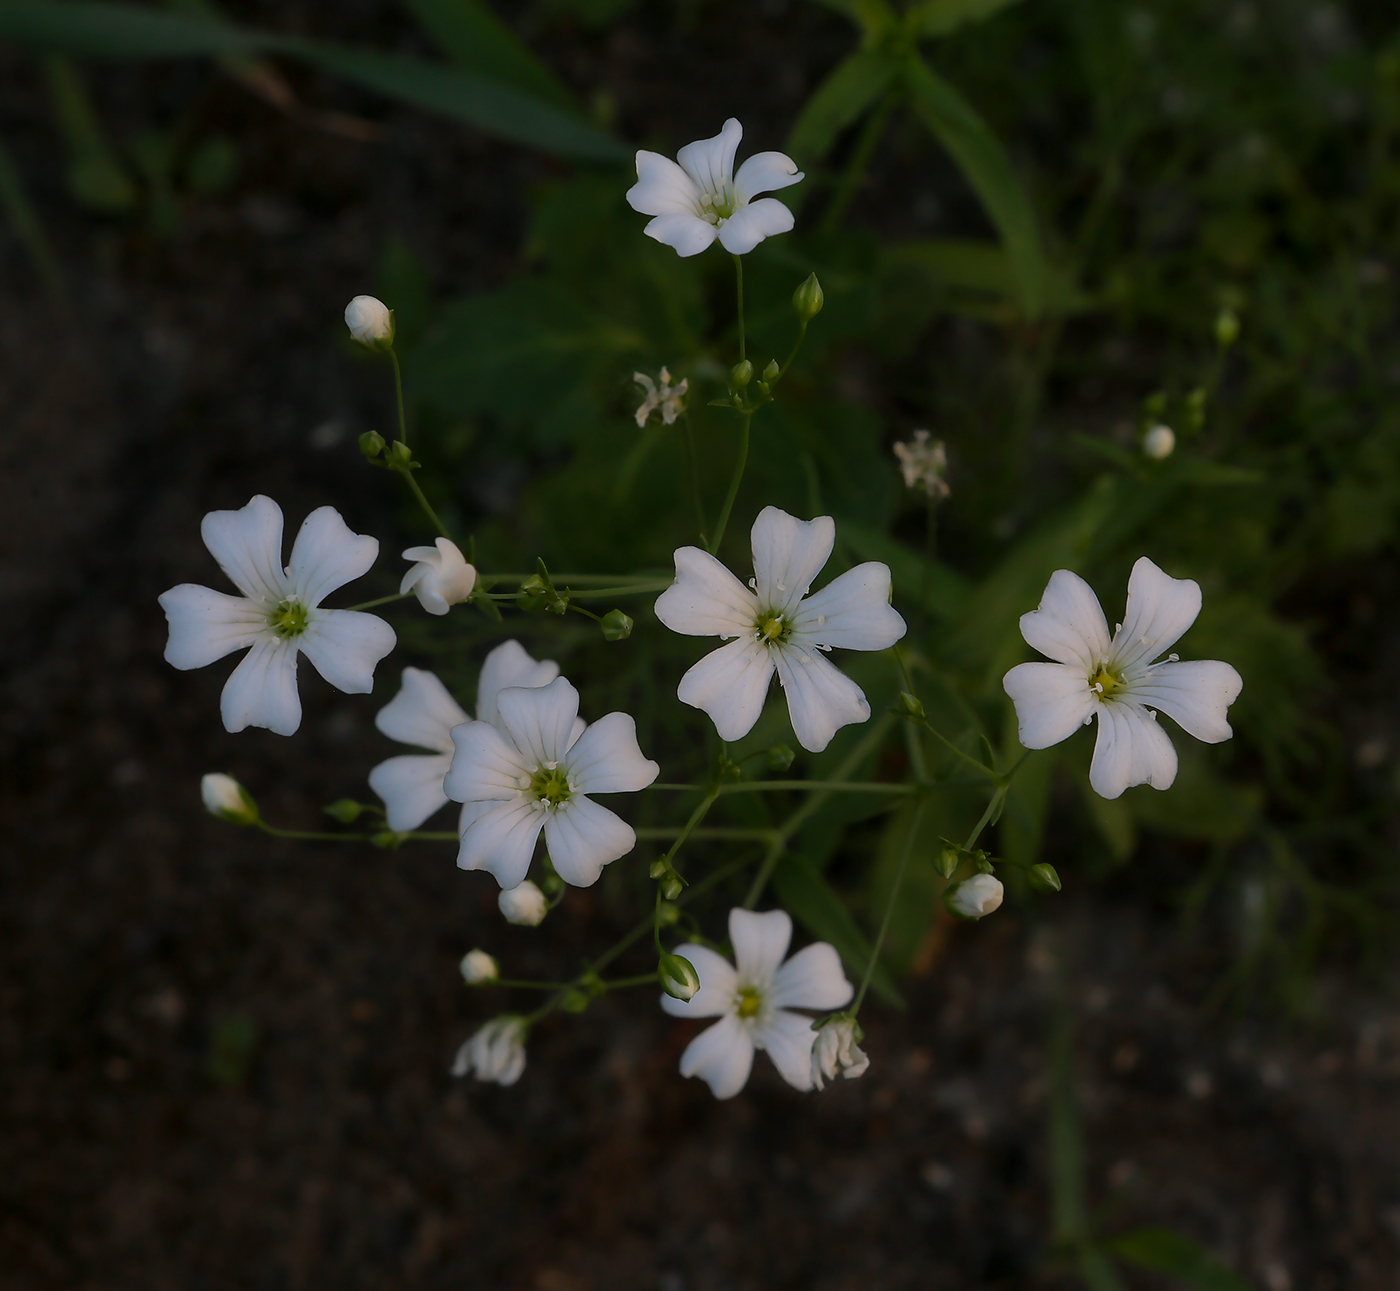
<instances>
[{"instance_id":1,"label":"open white flower at the cluster's centre, directly left of the rightmost bloom","mask_svg":"<svg viewBox=\"0 0 1400 1291\"><path fill-rule=\"evenodd\" d=\"M657 617L692 637L735 637L700 660L676 690L682 703L710 714L721 739L753 730L774 671L804 749L819 753L837 730L869 718L861 688L822 651L886 650L904 636L904 620L889 603L889 566L876 560L808 595L834 540L830 515L801 521L764 507L753 522L753 591L708 552L676 552L676 581L658 598Z\"/></svg>"}]
</instances>

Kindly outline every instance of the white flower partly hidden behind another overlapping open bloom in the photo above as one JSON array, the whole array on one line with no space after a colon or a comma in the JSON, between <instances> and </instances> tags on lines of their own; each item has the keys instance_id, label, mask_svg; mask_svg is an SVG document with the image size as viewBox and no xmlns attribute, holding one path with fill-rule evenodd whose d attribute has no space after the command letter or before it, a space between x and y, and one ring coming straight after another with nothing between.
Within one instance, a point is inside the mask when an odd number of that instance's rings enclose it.
<instances>
[{"instance_id":1,"label":"white flower partly hidden behind another overlapping open bloom","mask_svg":"<svg viewBox=\"0 0 1400 1291\"><path fill-rule=\"evenodd\" d=\"M496 721L496 696L507 686L543 686L556 676L559 664L553 660L536 662L519 641L503 641L482 664L476 713L483 721ZM384 800L389 829L417 829L447 807L442 777L452 765L452 727L470 720L434 674L403 669L403 686L374 724L389 739L434 752L389 758L370 772L370 788Z\"/></svg>"}]
</instances>

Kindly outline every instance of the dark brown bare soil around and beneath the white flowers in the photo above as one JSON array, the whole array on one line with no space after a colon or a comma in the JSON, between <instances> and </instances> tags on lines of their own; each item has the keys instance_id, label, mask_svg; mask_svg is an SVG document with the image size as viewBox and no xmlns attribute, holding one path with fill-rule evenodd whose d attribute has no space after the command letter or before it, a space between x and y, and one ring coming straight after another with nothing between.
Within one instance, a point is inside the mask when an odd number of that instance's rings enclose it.
<instances>
[{"instance_id":1,"label":"dark brown bare soil around and beneath the white flowers","mask_svg":"<svg viewBox=\"0 0 1400 1291\"><path fill-rule=\"evenodd\" d=\"M323 8L241 15L412 48L392 6ZM545 52L610 87L627 137L682 143L735 111L773 147L847 41L781 0L697 22L556 31ZM203 812L218 769L316 828L384 756L386 679L374 697L304 681L294 742L230 737L228 667L167 668L157 595L216 580L199 518L253 493L288 525L335 503L393 546L391 482L354 449L388 414L384 374L340 311L395 234L442 294L504 280L553 165L293 78L382 139L298 125L202 67L94 70L119 129L202 95L244 153L237 190L158 241L73 206L36 70L0 53L0 133L70 286L50 302L0 242L0 1287L1067 1280L1044 1148L1058 1000L1109 1231L1175 1227L1267 1291L1394 1287L1400 1010L1340 970L1306 1028L1207 1010L1228 933L1187 941L1151 896L1190 853L1070 884L1053 926L941 930L907 1012L871 1011L864 1080L801 1096L760 1060L715 1103L676 1077L690 1031L644 996L545 1025L514 1088L454 1081L456 1045L503 1003L462 987L459 956L543 954L501 928L494 885L449 849L293 846ZM575 893L554 954L615 928Z\"/></svg>"}]
</instances>

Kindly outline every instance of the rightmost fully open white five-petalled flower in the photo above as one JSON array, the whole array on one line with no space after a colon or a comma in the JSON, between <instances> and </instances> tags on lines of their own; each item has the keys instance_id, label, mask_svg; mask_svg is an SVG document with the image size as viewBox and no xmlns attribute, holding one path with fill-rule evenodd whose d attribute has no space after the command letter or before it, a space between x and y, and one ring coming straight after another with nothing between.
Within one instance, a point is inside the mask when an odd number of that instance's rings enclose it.
<instances>
[{"instance_id":1,"label":"rightmost fully open white five-petalled flower","mask_svg":"<svg viewBox=\"0 0 1400 1291\"><path fill-rule=\"evenodd\" d=\"M1095 791L1117 798L1134 784L1170 788L1176 749L1156 713L1197 739L1219 744L1233 734L1225 711L1243 685L1229 664L1217 660L1180 664L1173 654L1152 662L1200 612L1196 582L1170 578L1142 556L1128 578L1127 613L1110 641L1089 584L1056 570L1040 608L1021 616L1021 634L1056 662L1019 664L1002 679L1016 706L1021 742L1047 749L1098 714L1089 766Z\"/></svg>"}]
</instances>

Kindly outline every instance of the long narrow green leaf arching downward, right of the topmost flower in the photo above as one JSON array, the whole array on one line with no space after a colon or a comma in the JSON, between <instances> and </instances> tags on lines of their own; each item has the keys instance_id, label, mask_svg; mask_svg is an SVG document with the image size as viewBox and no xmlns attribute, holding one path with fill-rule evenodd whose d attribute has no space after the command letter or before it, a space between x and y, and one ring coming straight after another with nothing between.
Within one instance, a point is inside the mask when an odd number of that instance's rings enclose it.
<instances>
[{"instance_id":1,"label":"long narrow green leaf arching downward, right of the topmost flower","mask_svg":"<svg viewBox=\"0 0 1400 1291\"><path fill-rule=\"evenodd\" d=\"M1021 308L1029 318L1039 316L1049 277L1040 230L1001 140L972 104L917 55L909 57L904 76L914 113L952 154L997 225L1015 273Z\"/></svg>"}]
</instances>

